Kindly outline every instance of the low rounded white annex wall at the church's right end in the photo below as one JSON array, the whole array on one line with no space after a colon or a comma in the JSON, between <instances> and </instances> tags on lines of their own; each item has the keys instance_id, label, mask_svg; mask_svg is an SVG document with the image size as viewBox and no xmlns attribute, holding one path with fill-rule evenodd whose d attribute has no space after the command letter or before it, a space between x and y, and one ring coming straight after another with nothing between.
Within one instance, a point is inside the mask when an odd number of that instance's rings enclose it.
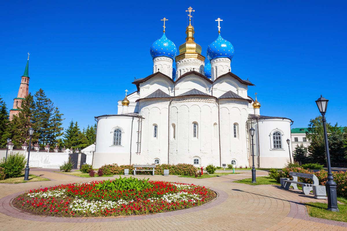
<instances>
[{"instance_id":1,"label":"low rounded white annex wall at the church's right end","mask_svg":"<svg viewBox=\"0 0 347 231\"><path fill-rule=\"evenodd\" d=\"M260 168L283 168L289 161L289 148L291 160L293 161L293 150L291 145L286 142L290 139L290 119L259 119L252 121L252 127L255 129L254 135L254 153L256 154L256 165ZM273 148L274 132L280 132L282 136L282 148ZM249 156L249 162L252 163L252 157Z\"/></svg>"}]
</instances>

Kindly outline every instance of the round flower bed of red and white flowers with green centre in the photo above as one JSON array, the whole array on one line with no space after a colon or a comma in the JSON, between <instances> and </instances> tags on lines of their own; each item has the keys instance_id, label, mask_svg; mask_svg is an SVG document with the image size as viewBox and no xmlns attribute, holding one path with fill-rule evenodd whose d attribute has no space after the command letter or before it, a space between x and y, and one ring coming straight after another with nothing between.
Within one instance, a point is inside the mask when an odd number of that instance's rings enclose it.
<instances>
[{"instance_id":1,"label":"round flower bed of red and white flowers with green centre","mask_svg":"<svg viewBox=\"0 0 347 231\"><path fill-rule=\"evenodd\" d=\"M47 216L124 216L181 210L216 197L204 186L128 179L33 189L16 197L13 204L25 212Z\"/></svg>"}]
</instances>

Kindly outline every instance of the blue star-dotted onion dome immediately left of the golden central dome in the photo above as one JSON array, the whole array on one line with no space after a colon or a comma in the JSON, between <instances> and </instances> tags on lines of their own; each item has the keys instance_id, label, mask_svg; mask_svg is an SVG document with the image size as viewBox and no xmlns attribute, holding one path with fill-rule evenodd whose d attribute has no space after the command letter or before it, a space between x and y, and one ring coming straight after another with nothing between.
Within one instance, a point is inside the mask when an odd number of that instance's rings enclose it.
<instances>
[{"instance_id":1,"label":"blue star-dotted onion dome immediately left of the golden central dome","mask_svg":"<svg viewBox=\"0 0 347 231\"><path fill-rule=\"evenodd\" d=\"M150 52L153 59L158 56L167 56L174 59L177 49L175 43L168 39L164 33L161 38L152 44Z\"/></svg>"}]
</instances>

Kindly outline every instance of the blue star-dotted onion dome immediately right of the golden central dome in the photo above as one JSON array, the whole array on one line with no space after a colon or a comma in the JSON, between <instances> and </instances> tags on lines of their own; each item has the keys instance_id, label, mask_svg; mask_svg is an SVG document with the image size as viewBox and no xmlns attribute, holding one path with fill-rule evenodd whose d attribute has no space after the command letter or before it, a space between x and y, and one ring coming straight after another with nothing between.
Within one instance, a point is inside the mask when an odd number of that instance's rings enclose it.
<instances>
[{"instance_id":1,"label":"blue star-dotted onion dome immediately right of the golden central dome","mask_svg":"<svg viewBox=\"0 0 347 231\"><path fill-rule=\"evenodd\" d=\"M219 34L218 38L207 48L207 58L212 60L224 57L231 60L234 56L234 52L234 46Z\"/></svg>"}]
</instances>

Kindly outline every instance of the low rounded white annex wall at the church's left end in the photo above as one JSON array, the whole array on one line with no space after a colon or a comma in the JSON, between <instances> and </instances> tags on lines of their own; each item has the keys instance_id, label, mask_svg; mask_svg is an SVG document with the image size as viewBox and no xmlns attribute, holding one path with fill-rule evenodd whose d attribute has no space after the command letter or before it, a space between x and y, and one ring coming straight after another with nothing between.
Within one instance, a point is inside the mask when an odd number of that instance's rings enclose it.
<instances>
[{"instance_id":1,"label":"low rounded white annex wall at the church's left end","mask_svg":"<svg viewBox=\"0 0 347 231\"><path fill-rule=\"evenodd\" d=\"M93 167L99 168L104 164L130 163L130 138L132 137L132 156L136 152L138 118L131 116L101 116L98 117L96 131L96 147L93 158ZM133 123L133 133L131 127ZM113 132L116 128L122 131L120 146L113 145Z\"/></svg>"}]
</instances>

